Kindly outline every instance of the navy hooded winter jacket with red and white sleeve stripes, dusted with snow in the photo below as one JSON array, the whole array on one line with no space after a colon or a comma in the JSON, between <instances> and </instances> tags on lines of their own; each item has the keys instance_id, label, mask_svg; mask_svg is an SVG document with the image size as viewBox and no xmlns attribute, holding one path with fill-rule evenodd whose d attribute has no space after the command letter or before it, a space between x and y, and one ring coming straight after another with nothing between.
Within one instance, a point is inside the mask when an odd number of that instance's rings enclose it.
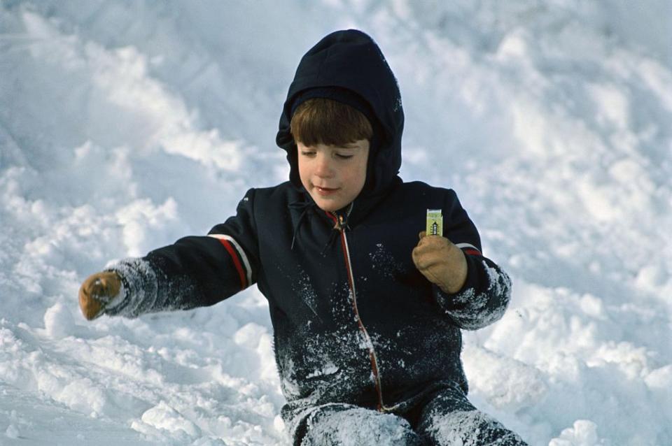
<instances>
[{"instance_id":1,"label":"navy hooded winter jacket with red and white sleeve stripes, dusted with snow","mask_svg":"<svg viewBox=\"0 0 672 446\"><path fill-rule=\"evenodd\" d=\"M293 101L315 87L355 93L377 128L365 188L335 213L317 208L301 187L288 131ZM281 115L277 143L290 181L250 189L237 215L208 236L113 266L127 298L106 312L214 305L256 284L269 304L283 411L342 402L393 412L436 383L466 392L460 330L500 318L510 280L482 255L455 192L400 180L402 128L399 90L377 45L359 31L325 37L302 58ZM442 210L444 236L465 252L468 276L455 294L428 282L412 261L427 209Z\"/></svg>"}]
</instances>

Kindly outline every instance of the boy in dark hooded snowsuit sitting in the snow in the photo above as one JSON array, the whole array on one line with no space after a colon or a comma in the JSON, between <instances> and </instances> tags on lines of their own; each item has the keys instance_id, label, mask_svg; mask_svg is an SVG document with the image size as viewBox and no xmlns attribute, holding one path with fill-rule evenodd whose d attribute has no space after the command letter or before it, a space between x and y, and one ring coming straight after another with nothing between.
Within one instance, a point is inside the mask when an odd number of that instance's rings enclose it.
<instances>
[{"instance_id":1,"label":"boy in dark hooded snowsuit sitting in the snow","mask_svg":"<svg viewBox=\"0 0 672 446\"><path fill-rule=\"evenodd\" d=\"M213 305L256 283L293 444L524 445L469 403L460 359L460 329L499 319L510 280L452 190L398 177L403 122L374 41L326 36L281 114L290 181L249 190L209 236L87 278L85 317ZM445 237L418 241L428 209Z\"/></svg>"}]
</instances>

